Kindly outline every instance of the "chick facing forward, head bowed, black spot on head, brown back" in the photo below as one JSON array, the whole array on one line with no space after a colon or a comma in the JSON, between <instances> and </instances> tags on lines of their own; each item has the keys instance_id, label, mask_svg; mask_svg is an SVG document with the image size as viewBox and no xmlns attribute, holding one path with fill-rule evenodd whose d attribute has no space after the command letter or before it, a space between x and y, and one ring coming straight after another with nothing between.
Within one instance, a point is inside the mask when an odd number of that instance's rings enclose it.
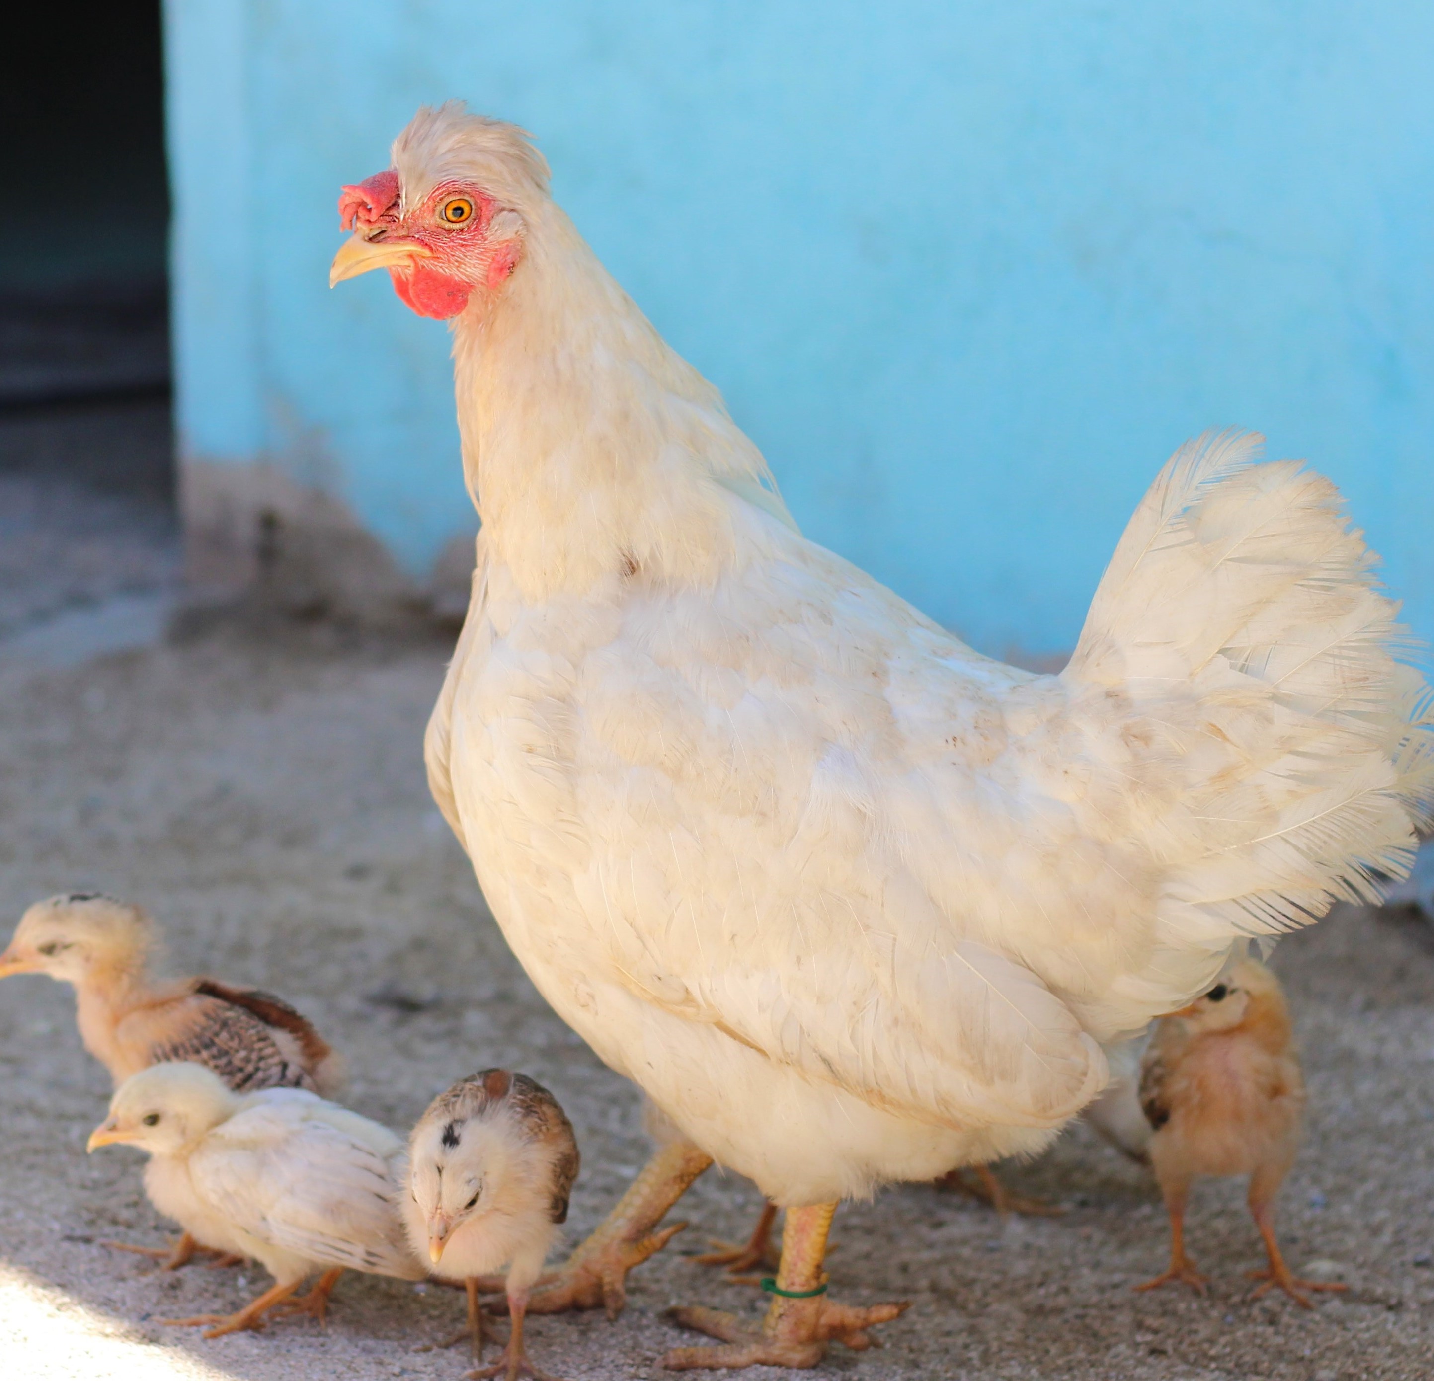
<instances>
[{"instance_id":1,"label":"chick facing forward, head bowed, black spot on head, brown back","mask_svg":"<svg viewBox=\"0 0 1434 1381\"><path fill-rule=\"evenodd\" d=\"M478 1279L508 1268L512 1332L503 1355L469 1377L552 1381L528 1361L528 1295L568 1218L578 1143L556 1098L526 1074L480 1070L440 1094L409 1137L403 1218L433 1273L467 1286L473 1358L482 1361Z\"/></svg>"}]
</instances>

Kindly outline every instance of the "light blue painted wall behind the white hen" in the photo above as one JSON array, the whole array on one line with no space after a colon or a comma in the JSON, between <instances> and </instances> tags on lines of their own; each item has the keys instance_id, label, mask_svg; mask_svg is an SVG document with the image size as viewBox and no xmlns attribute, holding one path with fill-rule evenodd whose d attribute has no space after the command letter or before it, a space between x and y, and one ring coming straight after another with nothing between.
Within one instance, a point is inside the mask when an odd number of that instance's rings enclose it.
<instances>
[{"instance_id":1,"label":"light blue painted wall behind the white hen","mask_svg":"<svg viewBox=\"0 0 1434 1381\"><path fill-rule=\"evenodd\" d=\"M422 575L469 522L445 330L330 294L420 102L532 129L817 541L1068 648L1206 426L1345 489L1434 637L1434 7L169 0L181 427Z\"/></svg>"}]
</instances>

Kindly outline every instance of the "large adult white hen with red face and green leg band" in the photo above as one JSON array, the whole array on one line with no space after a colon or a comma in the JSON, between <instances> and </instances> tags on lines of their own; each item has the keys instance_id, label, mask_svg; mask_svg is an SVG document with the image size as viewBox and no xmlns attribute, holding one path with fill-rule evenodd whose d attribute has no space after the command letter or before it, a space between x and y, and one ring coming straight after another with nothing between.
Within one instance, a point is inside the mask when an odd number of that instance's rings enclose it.
<instances>
[{"instance_id":1,"label":"large adult white hen with red face and green leg band","mask_svg":"<svg viewBox=\"0 0 1434 1381\"><path fill-rule=\"evenodd\" d=\"M1321 476L1183 446L1032 675L797 532L521 130L422 110L340 209L333 281L453 318L482 532L433 794L543 997L691 1143L554 1305L714 1157L792 1210L779 1298L756 1339L687 1314L731 1345L668 1362L865 1345L891 1314L819 1294L835 1200L1037 1150L1233 944L1407 870L1427 693Z\"/></svg>"}]
</instances>

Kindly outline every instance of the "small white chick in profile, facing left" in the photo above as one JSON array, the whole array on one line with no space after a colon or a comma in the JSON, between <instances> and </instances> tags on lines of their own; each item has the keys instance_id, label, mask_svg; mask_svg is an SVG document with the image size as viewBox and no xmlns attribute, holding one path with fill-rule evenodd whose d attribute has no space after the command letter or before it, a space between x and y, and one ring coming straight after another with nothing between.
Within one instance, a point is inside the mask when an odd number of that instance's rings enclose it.
<instances>
[{"instance_id":1,"label":"small white chick in profile, facing left","mask_svg":"<svg viewBox=\"0 0 1434 1381\"><path fill-rule=\"evenodd\" d=\"M211 1325L206 1338L262 1328L315 1271L295 1312L323 1319L343 1271L417 1281L396 1205L403 1143L387 1127L303 1088L238 1094L202 1064L155 1064L115 1093L89 1150L149 1153L151 1203L201 1242L252 1256L274 1286L237 1314L162 1319Z\"/></svg>"}]
</instances>

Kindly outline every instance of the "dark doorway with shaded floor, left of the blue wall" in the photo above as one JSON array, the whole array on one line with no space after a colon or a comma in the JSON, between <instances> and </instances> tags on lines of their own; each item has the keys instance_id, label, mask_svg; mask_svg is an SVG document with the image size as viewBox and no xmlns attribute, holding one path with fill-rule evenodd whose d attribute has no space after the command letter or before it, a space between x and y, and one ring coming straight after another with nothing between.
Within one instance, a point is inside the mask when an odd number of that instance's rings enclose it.
<instances>
[{"instance_id":1,"label":"dark doorway with shaded floor, left of the blue wall","mask_svg":"<svg viewBox=\"0 0 1434 1381\"><path fill-rule=\"evenodd\" d=\"M6 663L178 579L159 0L7 11L0 135Z\"/></svg>"}]
</instances>

